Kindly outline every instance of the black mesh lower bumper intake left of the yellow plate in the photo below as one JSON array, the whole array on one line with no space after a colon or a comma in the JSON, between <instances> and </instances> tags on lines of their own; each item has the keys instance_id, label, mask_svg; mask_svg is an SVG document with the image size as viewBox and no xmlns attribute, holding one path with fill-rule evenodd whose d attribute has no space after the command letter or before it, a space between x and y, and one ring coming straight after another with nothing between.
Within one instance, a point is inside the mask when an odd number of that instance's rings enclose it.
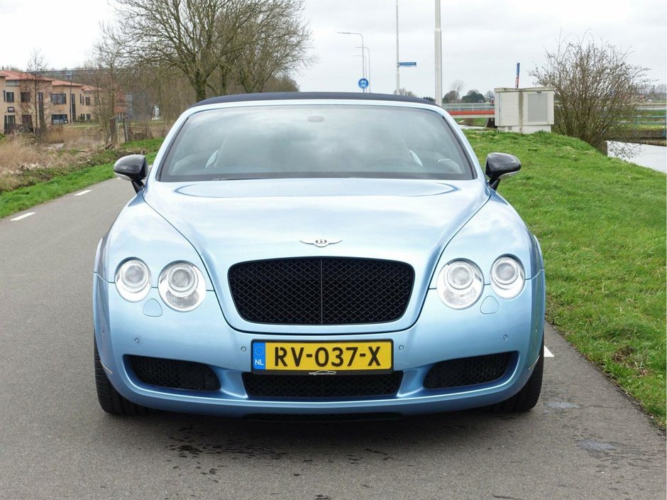
<instances>
[{"instance_id":1,"label":"black mesh lower bumper intake left of the yellow plate","mask_svg":"<svg viewBox=\"0 0 667 500\"><path fill-rule=\"evenodd\" d=\"M218 377L205 364L143 356L129 358L134 373L144 384L189 391L217 391L220 388Z\"/></svg>"}]
</instances>

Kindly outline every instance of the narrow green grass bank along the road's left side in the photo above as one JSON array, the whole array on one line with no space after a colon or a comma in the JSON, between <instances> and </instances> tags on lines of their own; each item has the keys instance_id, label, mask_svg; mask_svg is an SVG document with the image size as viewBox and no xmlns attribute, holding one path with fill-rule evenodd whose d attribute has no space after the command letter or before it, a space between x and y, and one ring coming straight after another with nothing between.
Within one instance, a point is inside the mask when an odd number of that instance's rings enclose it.
<instances>
[{"instance_id":1,"label":"narrow green grass bank along the road's left side","mask_svg":"<svg viewBox=\"0 0 667 500\"><path fill-rule=\"evenodd\" d=\"M114 161L124 154L150 153L147 155L148 161L153 161L161 143L162 139L125 143L119 150L96 153L87 160L87 163L93 163L92 165L26 170L21 173L23 187L0 191L0 218L113 178Z\"/></svg>"}]
</instances>

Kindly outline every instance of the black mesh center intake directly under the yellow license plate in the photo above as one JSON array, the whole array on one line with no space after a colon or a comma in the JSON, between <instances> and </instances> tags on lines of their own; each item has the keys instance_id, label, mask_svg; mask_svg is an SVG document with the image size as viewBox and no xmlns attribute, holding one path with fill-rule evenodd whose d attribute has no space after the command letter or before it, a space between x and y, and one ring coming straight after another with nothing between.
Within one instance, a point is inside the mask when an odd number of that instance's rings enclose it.
<instances>
[{"instance_id":1,"label":"black mesh center intake directly under the yellow license plate","mask_svg":"<svg viewBox=\"0 0 667 500\"><path fill-rule=\"evenodd\" d=\"M348 398L392 396L402 371L388 375L255 375L243 374L248 396L272 398Z\"/></svg>"}]
</instances>

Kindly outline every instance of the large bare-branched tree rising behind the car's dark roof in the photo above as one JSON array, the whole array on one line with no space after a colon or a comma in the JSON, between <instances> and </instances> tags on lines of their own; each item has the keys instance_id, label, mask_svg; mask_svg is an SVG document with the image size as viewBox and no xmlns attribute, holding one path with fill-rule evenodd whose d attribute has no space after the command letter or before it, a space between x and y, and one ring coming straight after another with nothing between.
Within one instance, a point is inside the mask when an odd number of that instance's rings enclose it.
<instances>
[{"instance_id":1,"label":"large bare-branched tree rising behind the car's dark roof","mask_svg":"<svg viewBox=\"0 0 667 500\"><path fill-rule=\"evenodd\" d=\"M207 90L226 93L244 55L252 61L246 71L248 82L266 78L267 71L258 68L268 64L266 53L271 49L283 59L278 71L302 57L310 34L302 21L290 17L301 9L302 0L117 0L117 24L107 26L104 34L118 48L122 65L175 69L201 100ZM286 21L297 28L296 37ZM284 34L280 43L276 30ZM248 47L254 51L248 52Z\"/></svg>"}]
</instances>

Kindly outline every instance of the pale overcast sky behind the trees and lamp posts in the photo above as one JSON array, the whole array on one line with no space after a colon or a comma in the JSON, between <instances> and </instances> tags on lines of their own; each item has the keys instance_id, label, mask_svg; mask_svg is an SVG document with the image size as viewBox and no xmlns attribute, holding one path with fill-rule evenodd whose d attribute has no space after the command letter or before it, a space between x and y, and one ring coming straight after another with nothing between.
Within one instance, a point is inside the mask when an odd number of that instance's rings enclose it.
<instances>
[{"instance_id":1,"label":"pale overcast sky behind the trees and lamp posts","mask_svg":"<svg viewBox=\"0 0 667 500\"><path fill-rule=\"evenodd\" d=\"M544 61L544 49L563 36L589 31L619 48L629 60L667 81L665 0L441 0L443 89L463 80L484 93L512 87L517 62L521 85L528 70ZM306 0L304 16L313 32L317 62L295 79L302 90L357 91L361 76L360 37L370 48L370 87L396 87L396 0ZM76 67L90 57L100 21L112 16L107 0L0 0L0 65L26 67L32 48L51 67ZM401 70L401 86L419 96L434 95L434 0L399 0L400 60L417 62Z\"/></svg>"}]
</instances>

